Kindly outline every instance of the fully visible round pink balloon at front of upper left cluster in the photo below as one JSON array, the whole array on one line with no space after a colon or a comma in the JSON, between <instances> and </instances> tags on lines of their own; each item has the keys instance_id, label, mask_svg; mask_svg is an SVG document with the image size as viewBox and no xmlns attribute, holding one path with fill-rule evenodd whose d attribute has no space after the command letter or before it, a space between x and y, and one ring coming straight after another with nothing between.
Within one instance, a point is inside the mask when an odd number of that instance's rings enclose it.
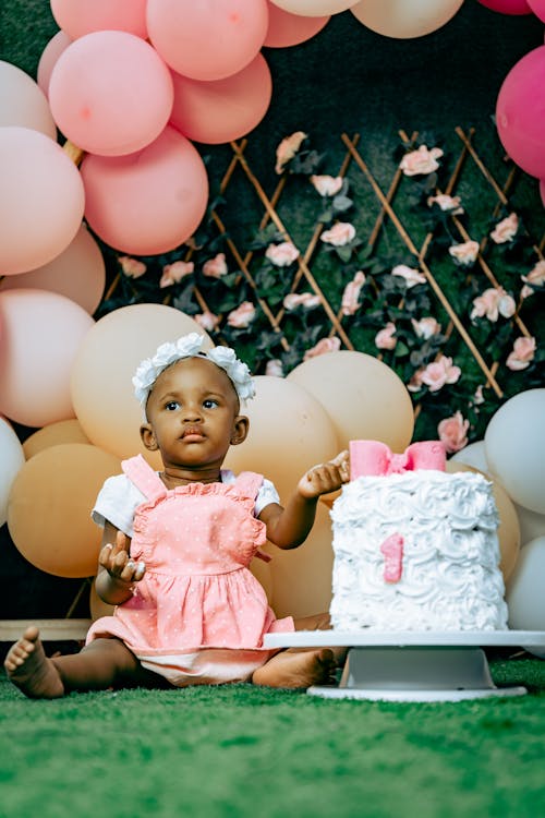
<instances>
[{"instance_id":1,"label":"fully visible round pink balloon at front of upper left cluster","mask_svg":"<svg viewBox=\"0 0 545 818\"><path fill-rule=\"evenodd\" d=\"M124 156L149 145L169 120L173 96L159 55L126 32L95 32L74 40L49 81L59 129L100 156Z\"/></svg>"}]
</instances>

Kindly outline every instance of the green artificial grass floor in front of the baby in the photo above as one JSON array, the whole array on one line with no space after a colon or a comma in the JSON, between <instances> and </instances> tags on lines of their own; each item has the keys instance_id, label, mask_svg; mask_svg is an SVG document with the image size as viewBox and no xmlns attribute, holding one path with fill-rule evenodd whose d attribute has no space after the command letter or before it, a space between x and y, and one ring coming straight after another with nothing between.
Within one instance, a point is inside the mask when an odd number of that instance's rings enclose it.
<instances>
[{"instance_id":1,"label":"green artificial grass floor in front of the baby","mask_svg":"<svg viewBox=\"0 0 545 818\"><path fill-rule=\"evenodd\" d=\"M0 681L0 816L540 816L545 664L529 695L331 701L251 685L25 699Z\"/></svg>"}]
</instances>

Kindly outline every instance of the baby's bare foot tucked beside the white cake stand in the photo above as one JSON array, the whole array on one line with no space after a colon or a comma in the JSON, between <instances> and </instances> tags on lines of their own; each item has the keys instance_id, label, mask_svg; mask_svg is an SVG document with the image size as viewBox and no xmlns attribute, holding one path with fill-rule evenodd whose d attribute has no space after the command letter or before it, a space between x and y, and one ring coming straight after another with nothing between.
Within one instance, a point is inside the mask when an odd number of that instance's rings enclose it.
<instances>
[{"instance_id":1,"label":"baby's bare foot tucked beside the white cake stand","mask_svg":"<svg viewBox=\"0 0 545 818\"><path fill-rule=\"evenodd\" d=\"M255 671L252 681L267 687L301 689L311 685L334 684L337 663L329 648L284 650Z\"/></svg>"}]
</instances>

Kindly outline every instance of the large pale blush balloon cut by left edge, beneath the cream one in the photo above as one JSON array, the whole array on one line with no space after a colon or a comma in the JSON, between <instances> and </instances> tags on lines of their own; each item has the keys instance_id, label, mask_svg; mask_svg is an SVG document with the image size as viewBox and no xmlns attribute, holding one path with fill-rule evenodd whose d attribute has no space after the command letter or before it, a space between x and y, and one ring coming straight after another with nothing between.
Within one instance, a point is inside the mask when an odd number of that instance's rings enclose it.
<instances>
[{"instance_id":1,"label":"large pale blush balloon cut by left edge, beneath the cream one","mask_svg":"<svg viewBox=\"0 0 545 818\"><path fill-rule=\"evenodd\" d=\"M85 204L77 168L49 136L0 128L0 275L16 275L55 258L82 224Z\"/></svg>"}]
</instances>

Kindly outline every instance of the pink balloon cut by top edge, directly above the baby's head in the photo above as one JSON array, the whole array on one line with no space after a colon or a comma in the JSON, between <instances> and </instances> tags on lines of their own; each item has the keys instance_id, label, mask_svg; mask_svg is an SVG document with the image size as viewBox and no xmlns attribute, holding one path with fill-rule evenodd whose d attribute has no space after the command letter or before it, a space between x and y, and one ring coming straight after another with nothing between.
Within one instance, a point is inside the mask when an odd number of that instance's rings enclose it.
<instances>
[{"instance_id":1,"label":"pink balloon cut by top edge, directly above the baby's head","mask_svg":"<svg viewBox=\"0 0 545 818\"><path fill-rule=\"evenodd\" d=\"M149 39L177 73L222 80L247 65L268 26L267 0L148 0Z\"/></svg>"}]
</instances>

